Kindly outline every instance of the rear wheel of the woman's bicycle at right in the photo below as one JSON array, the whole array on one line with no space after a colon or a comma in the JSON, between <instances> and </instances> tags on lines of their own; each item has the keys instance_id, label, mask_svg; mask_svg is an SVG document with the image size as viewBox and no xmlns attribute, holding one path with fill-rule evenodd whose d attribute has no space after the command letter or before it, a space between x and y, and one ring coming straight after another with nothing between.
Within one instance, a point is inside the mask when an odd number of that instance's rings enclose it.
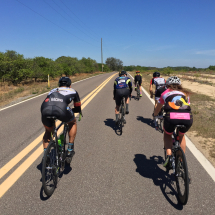
<instances>
[{"instance_id":1,"label":"rear wheel of the woman's bicycle at right","mask_svg":"<svg viewBox=\"0 0 215 215\"><path fill-rule=\"evenodd\" d=\"M175 179L178 199L182 205L186 205L189 196L189 178L186 157L181 147L176 151L175 158Z\"/></svg>"}]
</instances>

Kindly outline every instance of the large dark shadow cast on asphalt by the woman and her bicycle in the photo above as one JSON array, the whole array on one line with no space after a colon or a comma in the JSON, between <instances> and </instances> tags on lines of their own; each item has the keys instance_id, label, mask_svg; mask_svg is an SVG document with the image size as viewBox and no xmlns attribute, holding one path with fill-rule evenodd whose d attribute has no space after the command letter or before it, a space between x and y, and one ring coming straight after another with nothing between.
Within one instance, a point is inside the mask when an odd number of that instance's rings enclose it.
<instances>
[{"instance_id":1,"label":"large dark shadow cast on asphalt by the woman and her bicycle","mask_svg":"<svg viewBox=\"0 0 215 215\"><path fill-rule=\"evenodd\" d=\"M174 208L177 210L183 209L183 206L177 200L174 176L169 175L158 166L158 164L163 163L161 156L152 156L147 159L143 154L136 154L134 162L137 166L136 172L145 178L152 179L156 186L160 186L164 197Z\"/></svg>"}]
</instances>

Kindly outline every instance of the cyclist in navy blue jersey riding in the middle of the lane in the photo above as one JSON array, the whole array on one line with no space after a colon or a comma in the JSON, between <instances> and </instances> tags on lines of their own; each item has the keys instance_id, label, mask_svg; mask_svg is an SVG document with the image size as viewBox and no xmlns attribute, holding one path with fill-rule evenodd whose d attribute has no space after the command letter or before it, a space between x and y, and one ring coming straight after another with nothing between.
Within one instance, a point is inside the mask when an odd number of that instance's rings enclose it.
<instances>
[{"instance_id":1,"label":"cyclist in navy blue jersey riding in the middle of the lane","mask_svg":"<svg viewBox=\"0 0 215 215\"><path fill-rule=\"evenodd\" d=\"M121 71L119 74L120 76L115 79L114 81L114 90L113 90L113 96L114 100L116 101L116 107L115 107L115 114L116 114L116 124L118 124L119 120L119 106L121 104L121 100L123 97L125 97L126 101L126 114L129 114L129 96L131 97L132 93L132 83L130 78L127 77L126 71ZM124 120L124 123L126 121Z\"/></svg>"}]
</instances>

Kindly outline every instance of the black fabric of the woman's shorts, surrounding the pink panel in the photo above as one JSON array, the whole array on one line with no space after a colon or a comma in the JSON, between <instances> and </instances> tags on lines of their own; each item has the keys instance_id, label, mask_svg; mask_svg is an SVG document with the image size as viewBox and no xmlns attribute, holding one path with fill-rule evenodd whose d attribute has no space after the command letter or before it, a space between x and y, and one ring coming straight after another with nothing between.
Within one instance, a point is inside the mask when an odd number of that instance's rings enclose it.
<instances>
[{"instance_id":1,"label":"black fabric of the woman's shorts, surrounding the pink panel","mask_svg":"<svg viewBox=\"0 0 215 215\"><path fill-rule=\"evenodd\" d=\"M193 115L191 112L185 112L186 114L190 115L190 119L170 119L170 113L167 112L165 117L164 117L164 131L167 134L172 134L175 130L176 125L184 125L186 126L185 128L179 128L179 132L184 134L186 133L190 127L193 124Z\"/></svg>"}]
</instances>

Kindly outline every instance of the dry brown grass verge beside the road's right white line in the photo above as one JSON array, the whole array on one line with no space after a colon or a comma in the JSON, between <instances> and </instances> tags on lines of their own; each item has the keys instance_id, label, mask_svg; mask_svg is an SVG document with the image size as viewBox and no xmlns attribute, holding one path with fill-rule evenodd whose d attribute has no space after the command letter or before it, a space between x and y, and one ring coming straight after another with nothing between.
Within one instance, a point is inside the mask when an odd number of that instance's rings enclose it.
<instances>
[{"instance_id":1,"label":"dry brown grass verge beside the road's right white line","mask_svg":"<svg viewBox=\"0 0 215 215\"><path fill-rule=\"evenodd\" d=\"M135 72L130 72L134 77ZM153 73L142 73L143 88L149 93L149 84ZM209 151L209 155L215 158L215 99L199 93L190 92L191 109L193 113L193 125L188 131L195 132L195 136L203 137L200 141L201 147Z\"/></svg>"}]
</instances>

